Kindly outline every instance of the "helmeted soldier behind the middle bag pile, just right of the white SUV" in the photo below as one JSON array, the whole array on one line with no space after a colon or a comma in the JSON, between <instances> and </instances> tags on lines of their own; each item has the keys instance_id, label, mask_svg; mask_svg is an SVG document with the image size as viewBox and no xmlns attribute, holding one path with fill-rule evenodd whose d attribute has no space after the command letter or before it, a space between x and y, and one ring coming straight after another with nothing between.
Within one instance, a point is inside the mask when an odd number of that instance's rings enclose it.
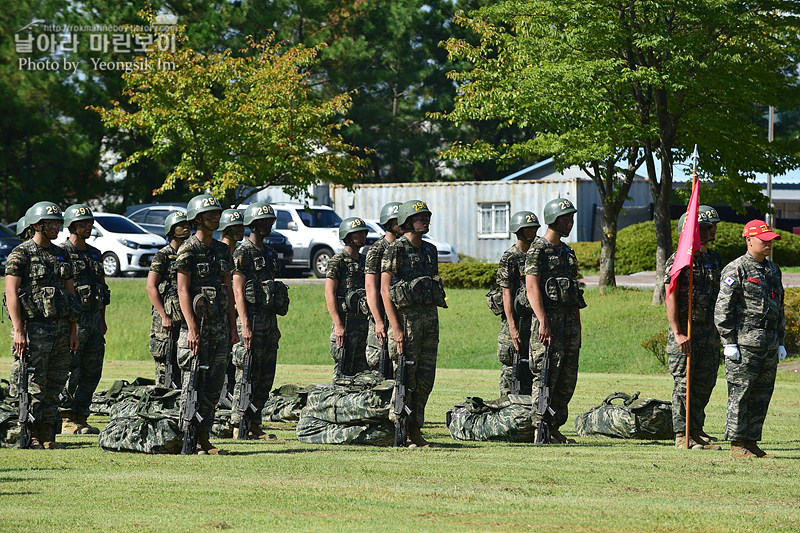
<instances>
[{"instance_id":1,"label":"helmeted soldier behind the middle bag pile, just right of the white SUV","mask_svg":"<svg viewBox=\"0 0 800 533\"><path fill-rule=\"evenodd\" d=\"M334 255L325 273L325 303L331 315L333 381L367 370L367 302L364 289L364 254L367 225L358 217L339 225L344 250Z\"/></svg>"}]
</instances>

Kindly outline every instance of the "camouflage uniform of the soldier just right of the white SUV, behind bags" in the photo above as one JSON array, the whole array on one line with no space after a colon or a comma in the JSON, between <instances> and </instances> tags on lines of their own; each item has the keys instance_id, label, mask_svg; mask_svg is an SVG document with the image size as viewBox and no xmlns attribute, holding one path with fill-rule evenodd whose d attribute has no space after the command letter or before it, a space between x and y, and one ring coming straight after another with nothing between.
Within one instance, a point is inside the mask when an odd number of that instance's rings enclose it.
<instances>
[{"instance_id":1,"label":"camouflage uniform of the soldier just right of the white SUV, behind bags","mask_svg":"<svg viewBox=\"0 0 800 533\"><path fill-rule=\"evenodd\" d=\"M350 257L346 250L342 250L328 262L328 270L325 273L326 278L339 282L336 287L336 307L345 323L344 351L351 358L352 365L350 371L345 374L345 369L341 366L342 350L336 345L335 328L331 325L331 359L334 361L334 381L341 376L353 376L369 369L366 357L367 331L369 330L367 317L359 313L344 311L345 296L350 291L364 290L364 263L363 254L359 255L356 260Z\"/></svg>"}]
</instances>

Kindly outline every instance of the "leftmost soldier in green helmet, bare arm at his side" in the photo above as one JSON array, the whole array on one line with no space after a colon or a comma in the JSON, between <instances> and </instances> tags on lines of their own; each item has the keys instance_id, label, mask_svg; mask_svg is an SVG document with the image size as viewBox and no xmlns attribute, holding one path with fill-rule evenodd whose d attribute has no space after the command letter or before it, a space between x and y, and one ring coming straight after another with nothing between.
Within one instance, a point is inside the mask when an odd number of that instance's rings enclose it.
<instances>
[{"instance_id":1,"label":"leftmost soldier in green helmet, bare arm at his side","mask_svg":"<svg viewBox=\"0 0 800 533\"><path fill-rule=\"evenodd\" d=\"M31 418L24 423L30 424L30 448L63 447L54 433L58 395L69 374L70 350L78 349L81 305L75 296L72 262L53 244L63 222L56 204L34 204L25 213L33 237L14 248L6 263L5 298L13 327L11 375L24 374L20 357L26 354L28 359ZM12 395L19 392L15 387Z\"/></svg>"}]
</instances>

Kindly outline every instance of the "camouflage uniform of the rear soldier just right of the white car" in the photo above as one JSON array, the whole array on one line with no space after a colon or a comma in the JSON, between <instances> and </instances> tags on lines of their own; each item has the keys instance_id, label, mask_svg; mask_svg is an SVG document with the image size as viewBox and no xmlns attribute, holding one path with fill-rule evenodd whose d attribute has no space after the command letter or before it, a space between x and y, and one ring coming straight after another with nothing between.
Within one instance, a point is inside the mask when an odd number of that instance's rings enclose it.
<instances>
[{"instance_id":1,"label":"camouflage uniform of the rear soldier just right of the white car","mask_svg":"<svg viewBox=\"0 0 800 533\"><path fill-rule=\"evenodd\" d=\"M180 313L178 302L178 269L176 259L178 251L171 245L161 248L153 256L150 263L150 272L158 274L161 281L158 283L158 294L164 310L173 321L172 333L161 325L161 315L155 307L152 308L152 321L150 323L150 355L156 366L156 383L165 385L167 361L173 362L173 381L180 383L180 368L177 366L178 337L181 333L183 315ZM172 353L170 352L172 350Z\"/></svg>"}]
</instances>

